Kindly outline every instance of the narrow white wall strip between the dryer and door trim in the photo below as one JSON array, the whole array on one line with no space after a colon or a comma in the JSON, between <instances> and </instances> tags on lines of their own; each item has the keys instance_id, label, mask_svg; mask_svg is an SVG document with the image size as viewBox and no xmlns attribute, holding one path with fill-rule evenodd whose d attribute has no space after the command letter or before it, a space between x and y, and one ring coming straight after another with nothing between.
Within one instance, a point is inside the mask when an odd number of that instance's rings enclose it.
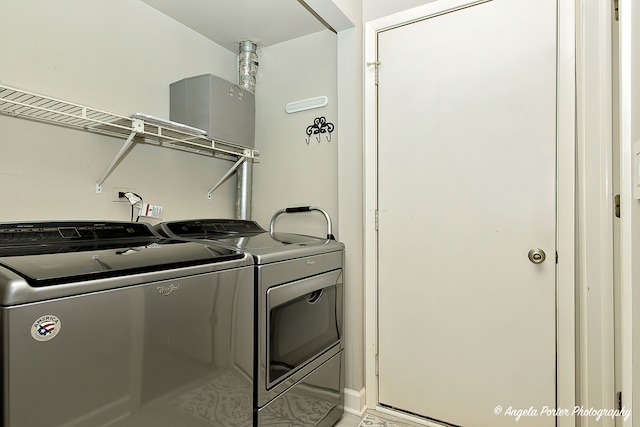
<instances>
[{"instance_id":1,"label":"narrow white wall strip between the dryer and door trim","mask_svg":"<svg viewBox=\"0 0 640 427\"><path fill-rule=\"evenodd\" d=\"M319 0L314 1L316 3ZM330 1L330 0L327 0ZM339 238L345 242L346 283L345 287L345 341L346 341L346 387L355 394L347 395L347 408L352 412L363 410L365 403L375 405L375 380L366 381L365 363L373 366L375 346L365 346L367 311L375 312L371 295L365 288L375 284L365 283L364 230L366 221L373 213L366 211L365 198L365 149L363 142L363 77L372 72L365 68L363 32L364 24L373 19L429 3L433 0L333 0L341 12L353 22L353 28L338 33L338 90L340 96L340 129L342 143L338 148L338 201ZM329 17L324 17L330 23ZM375 185L375 184L373 184ZM370 261L370 260L369 260ZM370 268L375 268L370 266ZM369 298L369 299L367 299ZM370 340L375 342L375 338ZM358 401L359 399L359 401ZM366 402L365 402L366 399ZM359 406L358 406L359 405Z\"/></svg>"}]
</instances>

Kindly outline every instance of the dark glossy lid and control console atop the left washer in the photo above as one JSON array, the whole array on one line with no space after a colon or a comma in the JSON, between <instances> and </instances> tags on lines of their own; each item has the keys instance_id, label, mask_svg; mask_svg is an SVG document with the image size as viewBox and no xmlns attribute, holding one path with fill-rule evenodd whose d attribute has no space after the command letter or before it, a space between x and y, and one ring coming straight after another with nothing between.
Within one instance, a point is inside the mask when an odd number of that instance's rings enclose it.
<instances>
[{"instance_id":1,"label":"dark glossy lid and control console atop the left washer","mask_svg":"<svg viewBox=\"0 0 640 427\"><path fill-rule=\"evenodd\" d=\"M0 266L34 287L243 257L215 245L163 239L143 223L0 224Z\"/></svg>"}]
</instances>

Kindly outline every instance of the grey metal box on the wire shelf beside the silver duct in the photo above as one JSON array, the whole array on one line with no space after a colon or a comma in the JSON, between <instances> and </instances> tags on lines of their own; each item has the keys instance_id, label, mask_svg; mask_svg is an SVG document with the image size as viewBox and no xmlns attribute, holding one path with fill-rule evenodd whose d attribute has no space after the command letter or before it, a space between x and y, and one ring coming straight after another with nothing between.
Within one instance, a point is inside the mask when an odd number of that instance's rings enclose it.
<instances>
[{"instance_id":1,"label":"grey metal box on the wire shelf beside the silver duct","mask_svg":"<svg viewBox=\"0 0 640 427\"><path fill-rule=\"evenodd\" d=\"M171 83L170 119L202 129L211 139L254 147L255 95L213 74Z\"/></svg>"}]
</instances>

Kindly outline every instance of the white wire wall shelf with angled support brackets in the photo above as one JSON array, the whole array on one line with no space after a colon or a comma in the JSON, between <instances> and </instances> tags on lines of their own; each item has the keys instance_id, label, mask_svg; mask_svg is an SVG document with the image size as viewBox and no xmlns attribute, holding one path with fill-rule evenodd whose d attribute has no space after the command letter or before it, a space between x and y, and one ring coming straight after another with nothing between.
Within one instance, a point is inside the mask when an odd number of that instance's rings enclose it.
<instances>
[{"instance_id":1,"label":"white wire wall shelf with angled support brackets","mask_svg":"<svg viewBox=\"0 0 640 427\"><path fill-rule=\"evenodd\" d=\"M235 160L236 163L225 177L242 161L257 160L260 156L253 148L213 140L207 137L204 131L180 123L142 114L127 117L4 85L0 85L0 113L125 139L114 159L98 179L97 193L102 192L102 184L135 142Z\"/></svg>"}]
</instances>

